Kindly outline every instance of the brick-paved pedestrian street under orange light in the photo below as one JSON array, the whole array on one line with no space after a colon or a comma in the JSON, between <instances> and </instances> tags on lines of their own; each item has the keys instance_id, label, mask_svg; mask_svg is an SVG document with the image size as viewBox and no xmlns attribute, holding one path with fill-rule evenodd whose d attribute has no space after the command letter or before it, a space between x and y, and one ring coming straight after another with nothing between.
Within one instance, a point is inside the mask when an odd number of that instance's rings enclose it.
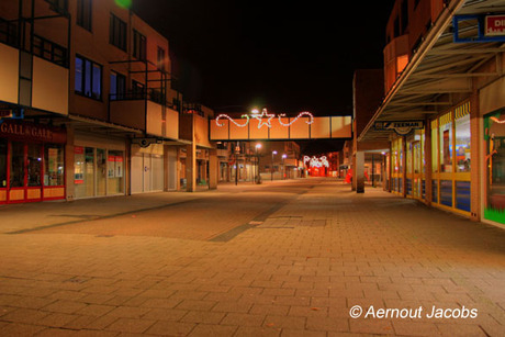
<instances>
[{"instance_id":1,"label":"brick-paved pedestrian street under orange light","mask_svg":"<svg viewBox=\"0 0 505 337\"><path fill-rule=\"evenodd\" d=\"M8 205L0 232L0 336L505 336L505 231L335 180Z\"/></svg>"}]
</instances>

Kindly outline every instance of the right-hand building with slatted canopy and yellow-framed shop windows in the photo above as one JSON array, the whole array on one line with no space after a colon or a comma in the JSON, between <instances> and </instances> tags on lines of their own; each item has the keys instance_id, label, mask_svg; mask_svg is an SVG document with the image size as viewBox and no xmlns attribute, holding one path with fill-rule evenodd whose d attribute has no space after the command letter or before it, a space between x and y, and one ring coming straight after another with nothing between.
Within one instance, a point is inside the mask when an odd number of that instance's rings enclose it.
<instances>
[{"instance_id":1,"label":"right-hand building with slatted canopy and yellow-framed shop windows","mask_svg":"<svg viewBox=\"0 0 505 337\"><path fill-rule=\"evenodd\" d=\"M385 98L356 142L386 142L386 190L497 226L505 224L504 12L496 1L396 1Z\"/></svg>"}]
</instances>

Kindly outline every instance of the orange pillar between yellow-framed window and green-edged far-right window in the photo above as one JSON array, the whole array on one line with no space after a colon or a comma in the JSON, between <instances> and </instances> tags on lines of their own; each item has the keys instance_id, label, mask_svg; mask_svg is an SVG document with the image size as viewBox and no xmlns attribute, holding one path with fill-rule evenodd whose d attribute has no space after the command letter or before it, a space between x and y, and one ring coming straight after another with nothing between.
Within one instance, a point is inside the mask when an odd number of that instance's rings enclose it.
<instances>
[{"instance_id":1,"label":"orange pillar between yellow-framed window and green-edged far-right window","mask_svg":"<svg viewBox=\"0 0 505 337\"><path fill-rule=\"evenodd\" d=\"M481 218L481 127L480 127L480 98L479 90L474 89L470 98L470 218L480 221Z\"/></svg>"}]
</instances>

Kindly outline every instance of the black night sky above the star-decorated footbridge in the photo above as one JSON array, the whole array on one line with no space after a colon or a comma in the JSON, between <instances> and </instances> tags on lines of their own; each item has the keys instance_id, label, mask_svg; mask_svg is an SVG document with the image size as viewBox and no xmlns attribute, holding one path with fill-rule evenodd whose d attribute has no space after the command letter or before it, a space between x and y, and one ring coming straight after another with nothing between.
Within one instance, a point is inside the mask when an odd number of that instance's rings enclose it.
<instances>
[{"instance_id":1,"label":"black night sky above the star-decorated footbridge","mask_svg":"<svg viewBox=\"0 0 505 337\"><path fill-rule=\"evenodd\" d=\"M170 44L177 89L216 111L352 112L355 69L382 68L393 0L134 0Z\"/></svg>"}]
</instances>

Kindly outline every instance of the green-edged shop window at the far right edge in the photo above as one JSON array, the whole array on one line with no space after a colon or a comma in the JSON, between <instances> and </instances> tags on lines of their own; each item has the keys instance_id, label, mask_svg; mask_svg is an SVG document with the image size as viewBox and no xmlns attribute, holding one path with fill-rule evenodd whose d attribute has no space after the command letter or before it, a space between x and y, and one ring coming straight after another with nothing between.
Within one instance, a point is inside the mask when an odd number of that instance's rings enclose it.
<instances>
[{"instance_id":1,"label":"green-edged shop window at the far right edge","mask_svg":"<svg viewBox=\"0 0 505 337\"><path fill-rule=\"evenodd\" d=\"M505 224L505 111L484 117L484 218Z\"/></svg>"}]
</instances>

